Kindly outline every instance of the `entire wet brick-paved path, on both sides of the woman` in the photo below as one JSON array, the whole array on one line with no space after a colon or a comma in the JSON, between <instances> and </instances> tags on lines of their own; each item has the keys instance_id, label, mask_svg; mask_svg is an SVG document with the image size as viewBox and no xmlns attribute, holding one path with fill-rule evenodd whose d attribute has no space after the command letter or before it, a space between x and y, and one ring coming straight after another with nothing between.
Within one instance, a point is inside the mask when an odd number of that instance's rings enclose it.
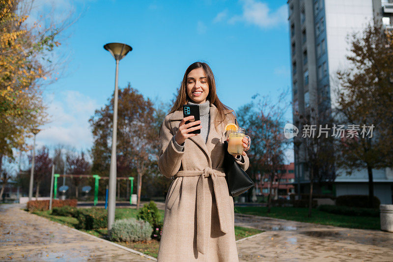
<instances>
[{"instance_id":1,"label":"entire wet brick-paved path, on both sides of the woman","mask_svg":"<svg viewBox=\"0 0 393 262\"><path fill-rule=\"evenodd\" d=\"M20 208L0 205L0 261L151 261ZM265 231L236 243L241 262L393 261L393 233L236 213L235 225Z\"/></svg>"}]
</instances>

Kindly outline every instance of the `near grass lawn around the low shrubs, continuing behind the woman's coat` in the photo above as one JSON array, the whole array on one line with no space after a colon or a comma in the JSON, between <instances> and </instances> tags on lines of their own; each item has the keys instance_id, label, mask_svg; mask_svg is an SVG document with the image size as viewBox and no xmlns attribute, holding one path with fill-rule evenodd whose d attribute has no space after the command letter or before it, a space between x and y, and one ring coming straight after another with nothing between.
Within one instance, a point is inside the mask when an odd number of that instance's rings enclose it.
<instances>
[{"instance_id":1,"label":"near grass lawn around the low shrubs, continuing behind the woman's coat","mask_svg":"<svg viewBox=\"0 0 393 262\"><path fill-rule=\"evenodd\" d=\"M164 210L159 210L161 212L161 217L164 219ZM119 217L119 219L123 218L131 218L131 217L137 217L139 210L133 209L133 208L116 208L115 215L116 217ZM37 214L39 216L48 218L52 221L58 222L60 224L76 228L78 225L78 220L75 217L66 217L66 216L54 216L51 215L51 211L36 211L34 214ZM96 229L96 230L81 230L83 232L108 239L108 230L106 228L102 229ZM257 230L257 229L251 229L251 228L243 228L243 227L235 227L235 237L236 240L261 233L262 231ZM115 242L117 244L126 246L128 248L137 250L143 254L152 256L154 258L157 258L157 253L158 253L158 247L160 246L160 242L152 239L148 241L139 241L139 242Z\"/></svg>"}]
</instances>

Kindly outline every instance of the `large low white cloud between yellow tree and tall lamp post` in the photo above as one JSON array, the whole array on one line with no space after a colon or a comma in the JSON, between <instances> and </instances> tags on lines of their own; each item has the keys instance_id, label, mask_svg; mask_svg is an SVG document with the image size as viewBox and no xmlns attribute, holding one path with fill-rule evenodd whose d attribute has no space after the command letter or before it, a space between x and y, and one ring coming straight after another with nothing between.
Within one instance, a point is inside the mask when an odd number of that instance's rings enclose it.
<instances>
[{"instance_id":1,"label":"large low white cloud between yellow tree and tall lamp post","mask_svg":"<svg viewBox=\"0 0 393 262\"><path fill-rule=\"evenodd\" d=\"M96 101L78 91L50 94L46 101L51 122L37 135L37 145L91 148L93 137L88 119L98 109Z\"/></svg>"}]
</instances>

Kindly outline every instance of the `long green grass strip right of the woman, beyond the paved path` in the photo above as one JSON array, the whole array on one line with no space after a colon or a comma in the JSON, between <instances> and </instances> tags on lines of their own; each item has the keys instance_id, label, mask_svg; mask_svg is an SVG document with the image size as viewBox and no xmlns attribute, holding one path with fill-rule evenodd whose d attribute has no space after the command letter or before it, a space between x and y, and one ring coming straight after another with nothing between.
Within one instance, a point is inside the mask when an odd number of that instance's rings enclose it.
<instances>
[{"instance_id":1,"label":"long green grass strip right of the woman, beyond the paved path","mask_svg":"<svg viewBox=\"0 0 393 262\"><path fill-rule=\"evenodd\" d=\"M307 217L308 208L296 207L272 207L271 212L267 213L267 207L263 206L236 206L235 213L282 218L299 222L309 222L322 225L330 225L344 228L355 229L375 229L379 230L379 217L365 216L346 216L337 215L312 209L311 217Z\"/></svg>"}]
</instances>

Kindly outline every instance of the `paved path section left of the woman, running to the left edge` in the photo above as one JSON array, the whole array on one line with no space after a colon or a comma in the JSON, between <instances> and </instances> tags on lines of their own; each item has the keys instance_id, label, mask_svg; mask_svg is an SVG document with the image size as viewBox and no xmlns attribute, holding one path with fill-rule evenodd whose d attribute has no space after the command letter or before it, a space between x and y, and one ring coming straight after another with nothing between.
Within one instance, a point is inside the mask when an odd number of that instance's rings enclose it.
<instances>
[{"instance_id":1,"label":"paved path section left of the woman, running to the left edge","mask_svg":"<svg viewBox=\"0 0 393 262\"><path fill-rule=\"evenodd\" d=\"M22 207L0 205L0 261L152 261Z\"/></svg>"}]
</instances>

